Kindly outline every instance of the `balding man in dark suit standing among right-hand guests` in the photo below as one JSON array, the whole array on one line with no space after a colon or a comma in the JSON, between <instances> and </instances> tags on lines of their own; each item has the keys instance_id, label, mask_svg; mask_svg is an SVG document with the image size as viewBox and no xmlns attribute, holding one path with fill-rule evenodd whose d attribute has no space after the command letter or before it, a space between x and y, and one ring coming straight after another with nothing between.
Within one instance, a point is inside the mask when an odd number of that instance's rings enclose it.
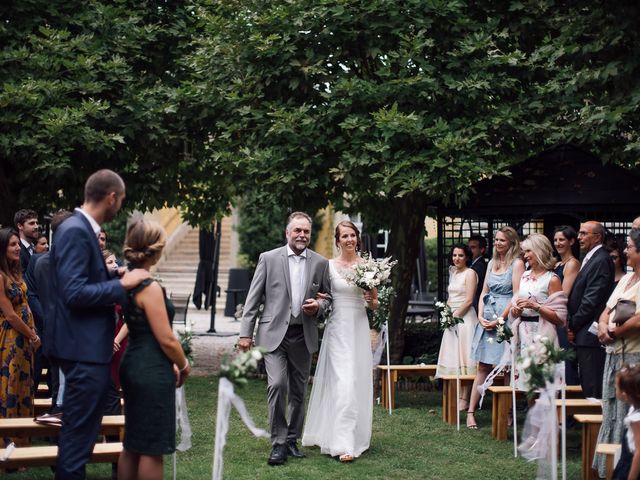
<instances>
[{"instance_id":1,"label":"balding man in dark suit standing among right-hand guests","mask_svg":"<svg viewBox=\"0 0 640 480\"><path fill-rule=\"evenodd\" d=\"M585 397L602 398L605 349L598 340L598 319L613 291L613 261L604 248L599 222L580 225L578 242L586 253L569 294L569 328L575 336L580 384Z\"/></svg>"}]
</instances>

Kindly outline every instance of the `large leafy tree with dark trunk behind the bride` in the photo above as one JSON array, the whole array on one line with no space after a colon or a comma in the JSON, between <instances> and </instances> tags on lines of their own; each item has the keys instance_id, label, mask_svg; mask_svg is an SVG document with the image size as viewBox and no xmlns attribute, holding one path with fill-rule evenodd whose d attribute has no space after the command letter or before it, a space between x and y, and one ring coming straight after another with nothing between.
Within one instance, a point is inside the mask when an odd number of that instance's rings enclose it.
<instances>
[{"instance_id":1,"label":"large leafy tree with dark trunk behind the bride","mask_svg":"<svg viewBox=\"0 0 640 480\"><path fill-rule=\"evenodd\" d=\"M294 208L331 199L369 229L390 226L397 360L429 205L463 203L478 180L558 142L635 161L637 13L631 2L214 2L188 60L216 105L203 146L215 154L200 166Z\"/></svg>"}]
</instances>

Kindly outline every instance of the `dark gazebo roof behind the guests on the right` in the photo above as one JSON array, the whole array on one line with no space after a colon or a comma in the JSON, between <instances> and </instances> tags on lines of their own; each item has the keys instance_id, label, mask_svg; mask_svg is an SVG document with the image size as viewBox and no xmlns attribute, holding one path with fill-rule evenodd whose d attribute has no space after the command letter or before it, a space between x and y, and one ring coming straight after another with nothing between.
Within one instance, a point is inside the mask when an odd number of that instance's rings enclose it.
<instances>
[{"instance_id":1,"label":"dark gazebo roof behind the guests on the right","mask_svg":"<svg viewBox=\"0 0 640 480\"><path fill-rule=\"evenodd\" d=\"M510 176L483 180L461 208L440 214L509 217L568 212L640 213L640 172L602 161L573 145L561 145L511 168Z\"/></svg>"}]
</instances>

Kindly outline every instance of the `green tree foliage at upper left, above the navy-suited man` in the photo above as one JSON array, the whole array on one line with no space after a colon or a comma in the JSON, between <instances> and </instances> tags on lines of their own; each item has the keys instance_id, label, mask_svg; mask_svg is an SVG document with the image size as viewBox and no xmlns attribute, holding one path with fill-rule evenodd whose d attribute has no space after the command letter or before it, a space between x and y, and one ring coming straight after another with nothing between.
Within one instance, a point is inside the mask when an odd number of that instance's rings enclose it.
<instances>
[{"instance_id":1,"label":"green tree foliage at upper left, above the navy-suited man","mask_svg":"<svg viewBox=\"0 0 640 480\"><path fill-rule=\"evenodd\" d=\"M82 200L111 168L127 203L189 193L198 137L180 60L201 28L192 2L9 1L0 7L0 223Z\"/></svg>"}]
</instances>

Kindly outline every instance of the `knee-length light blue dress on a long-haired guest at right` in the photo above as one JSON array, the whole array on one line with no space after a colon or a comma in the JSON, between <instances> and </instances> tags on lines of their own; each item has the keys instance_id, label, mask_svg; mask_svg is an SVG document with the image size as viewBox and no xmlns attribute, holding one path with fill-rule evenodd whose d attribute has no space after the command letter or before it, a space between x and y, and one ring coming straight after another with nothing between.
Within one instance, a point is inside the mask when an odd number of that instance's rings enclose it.
<instances>
[{"instance_id":1,"label":"knee-length light blue dress on a long-haired guest at right","mask_svg":"<svg viewBox=\"0 0 640 480\"><path fill-rule=\"evenodd\" d=\"M511 302L513 297L513 264L509 265L507 271L495 273L492 271L492 265L489 263L487 267L487 285L489 293L484 297L484 315L485 320L493 320L493 316L499 317L504 309ZM506 318L505 318L506 320ZM488 365L496 365L500 363L504 346L506 342L498 343L496 341L495 330L485 330L482 325L476 325L476 331L473 335L473 343L471 346L471 358Z\"/></svg>"}]
</instances>

